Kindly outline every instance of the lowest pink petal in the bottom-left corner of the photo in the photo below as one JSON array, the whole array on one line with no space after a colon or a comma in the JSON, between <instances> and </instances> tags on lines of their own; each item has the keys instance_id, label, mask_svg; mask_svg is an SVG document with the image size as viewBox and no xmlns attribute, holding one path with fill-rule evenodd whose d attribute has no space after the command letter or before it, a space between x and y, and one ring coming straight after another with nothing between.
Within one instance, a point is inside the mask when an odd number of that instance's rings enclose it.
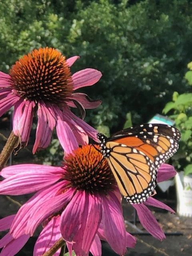
<instances>
[{"instance_id":1,"label":"lowest pink petal in the bottom-left corner of the photo","mask_svg":"<svg viewBox=\"0 0 192 256\"><path fill-rule=\"evenodd\" d=\"M8 255L15 255L17 254L21 248L26 244L26 242L29 240L30 236L23 235L20 236L17 239L13 239L10 241L1 251L1 256L8 256Z\"/></svg>"}]
</instances>

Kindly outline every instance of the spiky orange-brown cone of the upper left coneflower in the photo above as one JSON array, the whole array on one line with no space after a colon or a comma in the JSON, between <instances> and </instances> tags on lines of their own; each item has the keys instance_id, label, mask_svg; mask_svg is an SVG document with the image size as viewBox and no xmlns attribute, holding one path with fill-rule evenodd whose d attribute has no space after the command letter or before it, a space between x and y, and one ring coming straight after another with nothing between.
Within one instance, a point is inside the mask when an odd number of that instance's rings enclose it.
<instances>
[{"instance_id":1,"label":"spiky orange-brown cone of the upper left coneflower","mask_svg":"<svg viewBox=\"0 0 192 256\"><path fill-rule=\"evenodd\" d=\"M12 66L10 77L17 94L35 102L63 104L73 90L66 57L54 48L24 55Z\"/></svg>"}]
</instances>

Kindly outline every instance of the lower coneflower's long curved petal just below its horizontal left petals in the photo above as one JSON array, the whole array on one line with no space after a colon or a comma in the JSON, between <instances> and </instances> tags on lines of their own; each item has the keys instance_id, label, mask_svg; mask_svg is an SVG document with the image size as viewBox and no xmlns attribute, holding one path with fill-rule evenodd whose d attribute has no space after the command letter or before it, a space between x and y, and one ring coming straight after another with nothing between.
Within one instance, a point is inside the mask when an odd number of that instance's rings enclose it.
<instances>
[{"instance_id":1,"label":"lower coneflower's long curved petal just below its horizontal left petals","mask_svg":"<svg viewBox=\"0 0 192 256\"><path fill-rule=\"evenodd\" d=\"M45 200L49 198L54 198L56 194L59 194L59 191L65 189L65 186L68 185L69 182L61 181L57 184L51 185L49 188L42 189L37 192L28 200L21 208L18 210L16 217L12 223L10 228L10 233L14 238L18 238L19 236L26 233L27 223L30 222L30 216L33 212L33 209L38 208L39 204L42 204Z\"/></svg>"}]
</instances>

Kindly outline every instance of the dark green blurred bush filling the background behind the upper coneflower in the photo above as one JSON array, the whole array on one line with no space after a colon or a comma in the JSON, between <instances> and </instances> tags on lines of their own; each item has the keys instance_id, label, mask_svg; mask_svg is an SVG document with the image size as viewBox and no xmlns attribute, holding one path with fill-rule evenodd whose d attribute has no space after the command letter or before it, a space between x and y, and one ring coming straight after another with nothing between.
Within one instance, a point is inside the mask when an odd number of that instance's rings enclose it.
<instances>
[{"instance_id":1,"label":"dark green blurred bush filling the background behind the upper coneflower","mask_svg":"<svg viewBox=\"0 0 192 256\"><path fill-rule=\"evenodd\" d=\"M103 73L85 89L102 106L86 121L111 132L131 113L133 124L161 113L174 91L187 90L183 76L192 56L189 0L1 0L0 70L40 46L80 55L72 71ZM128 115L129 116L129 115Z\"/></svg>"}]
</instances>

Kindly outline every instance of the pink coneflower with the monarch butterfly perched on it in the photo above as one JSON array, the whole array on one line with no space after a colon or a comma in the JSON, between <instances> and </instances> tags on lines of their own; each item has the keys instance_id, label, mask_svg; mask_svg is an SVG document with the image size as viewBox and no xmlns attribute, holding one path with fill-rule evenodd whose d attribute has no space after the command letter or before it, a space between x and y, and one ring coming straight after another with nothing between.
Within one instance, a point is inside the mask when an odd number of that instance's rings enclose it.
<instances>
[{"instance_id":1,"label":"pink coneflower with the monarch butterfly perched on it","mask_svg":"<svg viewBox=\"0 0 192 256\"><path fill-rule=\"evenodd\" d=\"M94 146L68 154L63 167L21 164L4 168L1 175L5 180L0 194L36 192L18 210L10 228L10 235L18 239L24 234L32 236L40 224L46 224L34 255L42 255L60 236L77 256L87 256L89 251L100 256L100 239L120 255L135 245L136 239L125 230L112 172ZM48 238L53 230L57 235Z\"/></svg>"}]
</instances>

